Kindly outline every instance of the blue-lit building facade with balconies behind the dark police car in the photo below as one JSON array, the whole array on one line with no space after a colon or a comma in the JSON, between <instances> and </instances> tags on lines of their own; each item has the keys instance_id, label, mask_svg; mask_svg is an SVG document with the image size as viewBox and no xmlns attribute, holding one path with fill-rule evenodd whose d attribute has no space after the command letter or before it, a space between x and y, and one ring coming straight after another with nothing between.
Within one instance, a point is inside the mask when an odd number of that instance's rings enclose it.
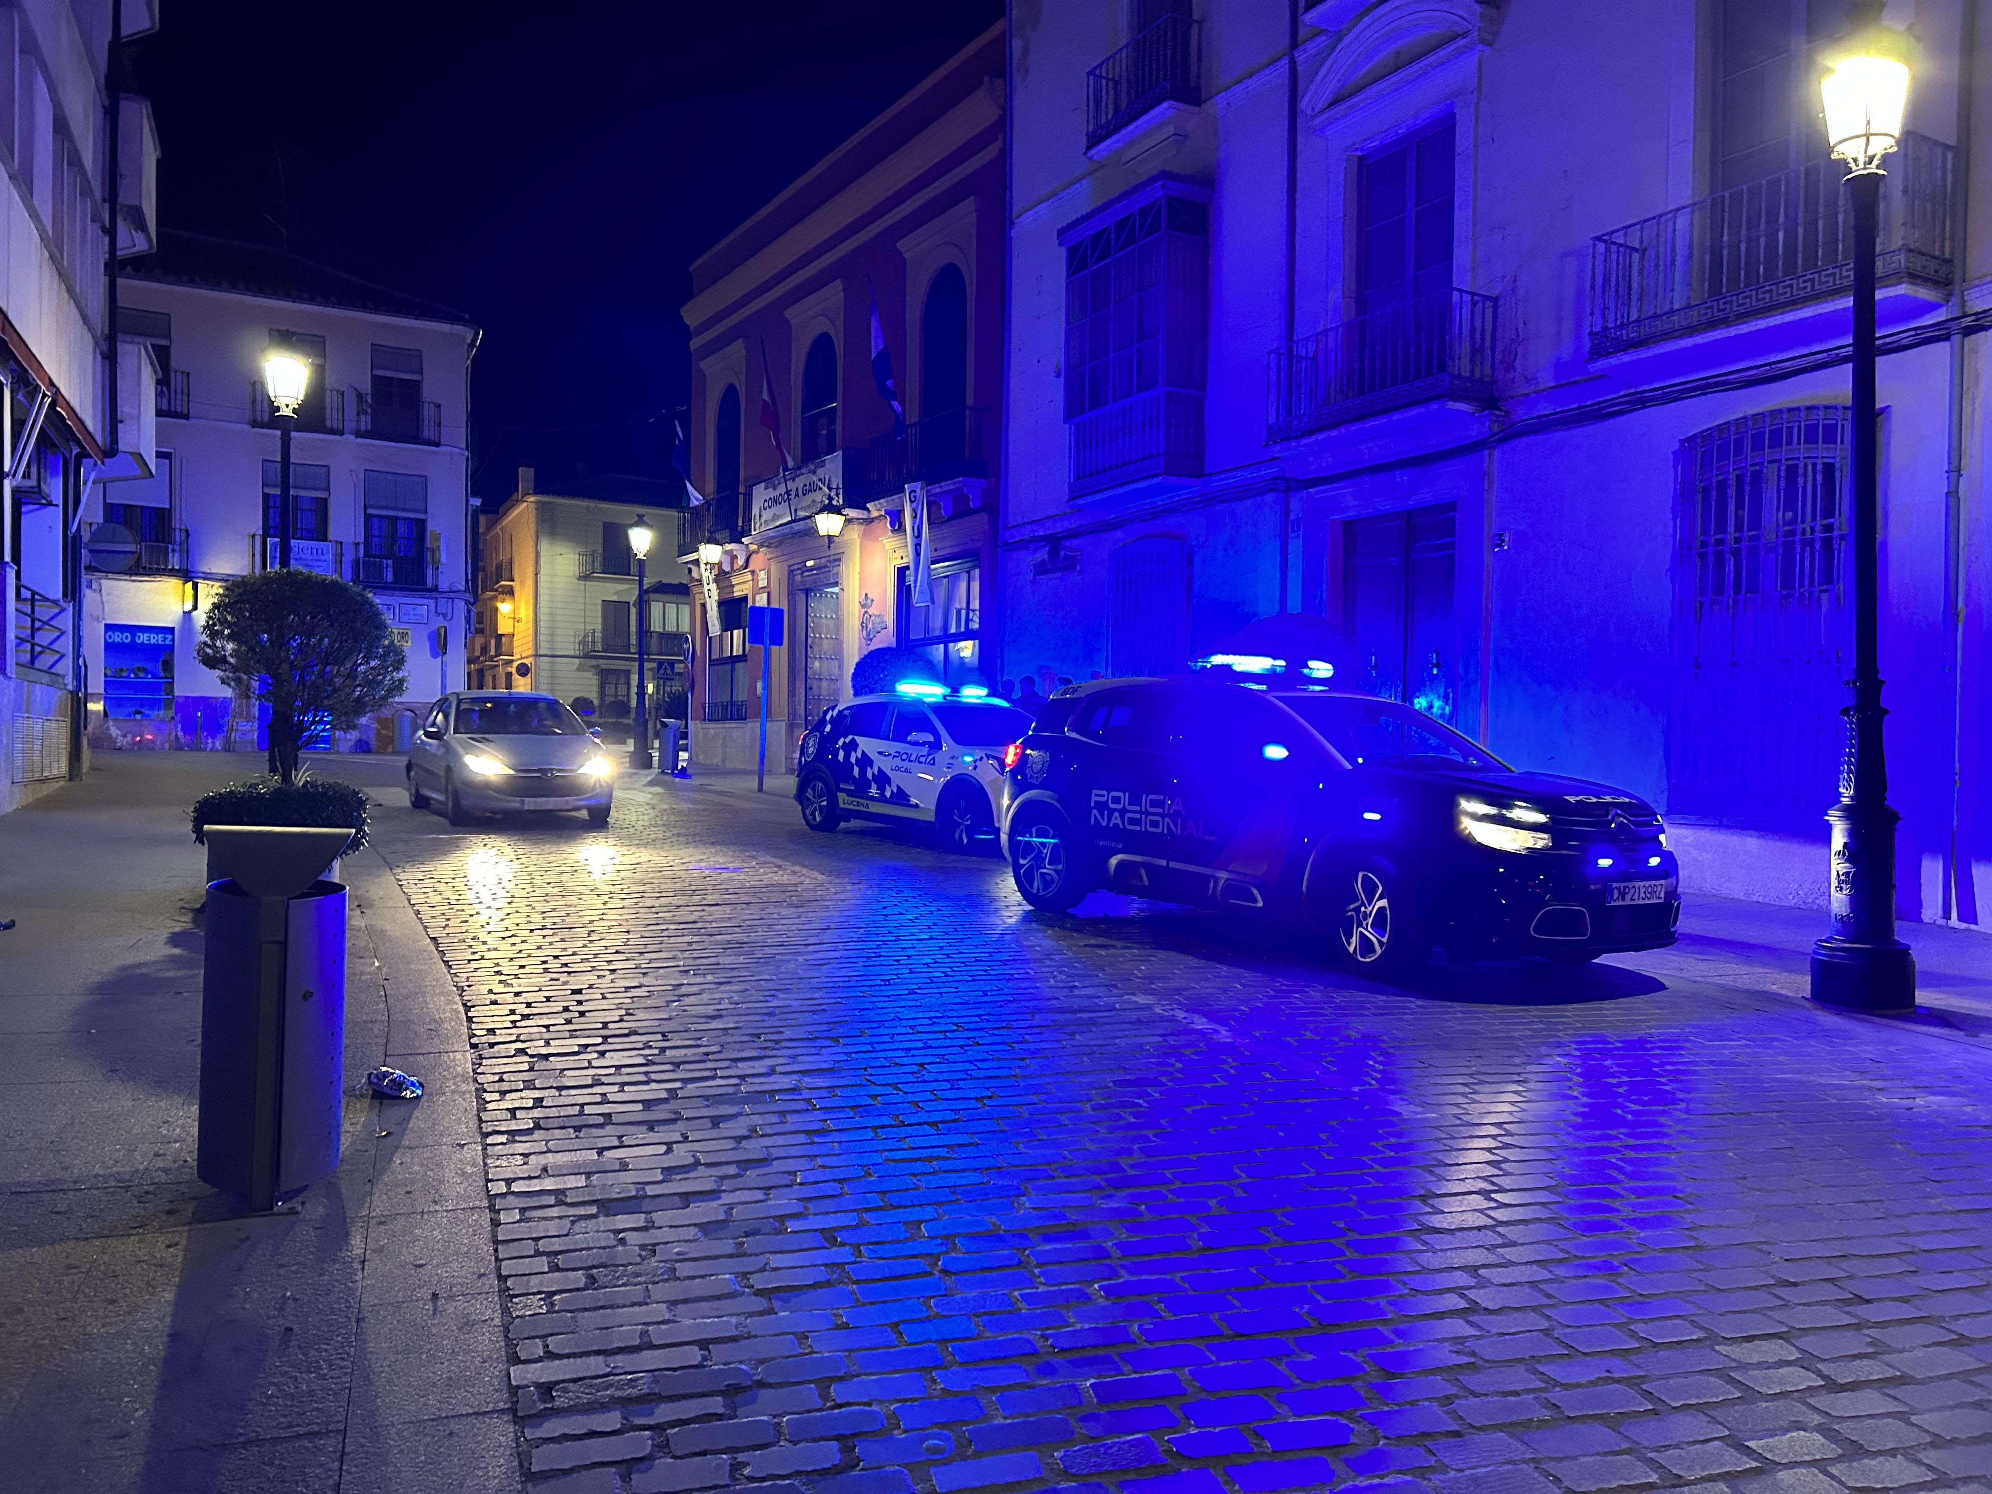
<instances>
[{"instance_id":1,"label":"blue-lit building facade with balconies behind the dark police car","mask_svg":"<svg viewBox=\"0 0 1992 1494\"><path fill-rule=\"evenodd\" d=\"M1882 209L1882 673L1900 908L1986 924L1968 4L1884 12L1920 60ZM1004 673L1173 669L1317 614L1353 683L1653 797L1689 890L1823 906L1849 217L1817 54L1855 10L1018 16Z\"/></svg>"}]
</instances>

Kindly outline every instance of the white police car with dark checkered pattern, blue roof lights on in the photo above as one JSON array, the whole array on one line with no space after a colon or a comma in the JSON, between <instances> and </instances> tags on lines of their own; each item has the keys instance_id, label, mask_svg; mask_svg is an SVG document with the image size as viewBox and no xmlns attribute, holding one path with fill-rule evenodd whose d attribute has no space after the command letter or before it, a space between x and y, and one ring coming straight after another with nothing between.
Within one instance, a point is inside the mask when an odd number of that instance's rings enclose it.
<instances>
[{"instance_id":1,"label":"white police car with dark checkered pattern, blue roof lights on","mask_svg":"<svg viewBox=\"0 0 1992 1494\"><path fill-rule=\"evenodd\" d=\"M845 819L914 823L972 851L994 837L1004 755L1016 755L1026 731L1030 715L980 685L906 681L890 695L859 695L803 737L795 803L813 831Z\"/></svg>"}]
</instances>

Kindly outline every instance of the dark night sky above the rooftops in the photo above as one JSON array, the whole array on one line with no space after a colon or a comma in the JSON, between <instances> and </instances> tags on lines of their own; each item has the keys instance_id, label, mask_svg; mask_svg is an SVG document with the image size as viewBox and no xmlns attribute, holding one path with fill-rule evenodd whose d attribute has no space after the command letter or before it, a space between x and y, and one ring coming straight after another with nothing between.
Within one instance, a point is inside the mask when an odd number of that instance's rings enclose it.
<instances>
[{"instance_id":1,"label":"dark night sky above the rooftops","mask_svg":"<svg viewBox=\"0 0 1992 1494\"><path fill-rule=\"evenodd\" d=\"M131 50L167 227L484 329L472 490L663 476L687 267L1002 0L195 0Z\"/></svg>"}]
</instances>

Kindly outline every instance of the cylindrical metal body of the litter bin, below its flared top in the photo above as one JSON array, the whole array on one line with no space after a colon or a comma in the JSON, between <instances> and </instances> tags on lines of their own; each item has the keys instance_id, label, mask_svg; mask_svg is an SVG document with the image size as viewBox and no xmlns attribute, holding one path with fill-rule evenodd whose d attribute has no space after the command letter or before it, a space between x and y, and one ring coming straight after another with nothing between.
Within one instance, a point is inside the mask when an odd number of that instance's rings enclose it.
<instances>
[{"instance_id":1,"label":"cylindrical metal body of the litter bin, below its flared top","mask_svg":"<svg viewBox=\"0 0 1992 1494\"><path fill-rule=\"evenodd\" d=\"M203 1183L271 1209L339 1167L347 1042L347 888L297 896L207 886L201 984Z\"/></svg>"}]
</instances>

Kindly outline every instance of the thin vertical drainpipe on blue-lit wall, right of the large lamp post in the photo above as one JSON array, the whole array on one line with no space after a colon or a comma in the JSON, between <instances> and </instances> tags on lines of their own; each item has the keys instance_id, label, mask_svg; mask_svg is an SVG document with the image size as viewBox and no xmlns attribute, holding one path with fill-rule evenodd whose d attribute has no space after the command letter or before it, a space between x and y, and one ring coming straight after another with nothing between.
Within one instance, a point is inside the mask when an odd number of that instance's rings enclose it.
<instances>
[{"instance_id":1,"label":"thin vertical drainpipe on blue-lit wall, right of the large lamp post","mask_svg":"<svg viewBox=\"0 0 1992 1494\"><path fill-rule=\"evenodd\" d=\"M1964 590L1970 540L1964 526L1964 249L1970 225L1972 72L1978 52L1978 6L1960 6L1958 118L1950 169L1950 410L1944 428L1944 618L1950 622L1950 823L1944 843L1944 922L1978 922L1970 847L1964 845Z\"/></svg>"}]
</instances>

